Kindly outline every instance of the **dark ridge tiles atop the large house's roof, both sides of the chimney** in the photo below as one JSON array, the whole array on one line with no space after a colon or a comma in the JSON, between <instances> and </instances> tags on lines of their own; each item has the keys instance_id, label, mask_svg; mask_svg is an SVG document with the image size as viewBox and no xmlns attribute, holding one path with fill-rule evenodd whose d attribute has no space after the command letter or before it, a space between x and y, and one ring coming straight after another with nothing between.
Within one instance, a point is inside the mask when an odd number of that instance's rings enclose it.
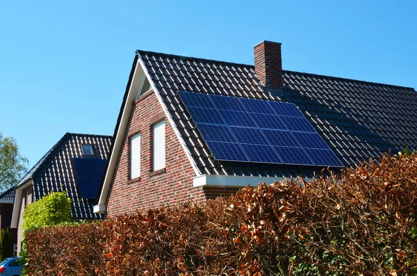
<instances>
[{"instance_id":1,"label":"dark ridge tiles atop the large house's roof, both sides of the chimney","mask_svg":"<svg viewBox=\"0 0 417 276\"><path fill-rule=\"evenodd\" d=\"M255 70L254 65L248 65L248 64L243 64L243 63L231 63L231 62L227 62L227 61L222 61L222 60L211 60L211 59L207 59L207 58L195 58L193 56L179 56L179 55L174 55L174 54L164 54L164 53L158 53L155 51L142 51L142 50L136 50L136 54L152 54L152 55L158 55L158 56L168 56L168 57L174 57L174 58L190 58L192 60L199 60L199 61L204 61L204 62L211 62L211 63L220 63L220 64L224 64L224 65L238 65L238 66L245 66L245 67L251 67L252 70ZM326 76L326 75L321 75L321 74L312 74L312 73L305 73L305 72L297 72L297 71L291 71L291 70L282 70L282 72L288 72L288 73L293 73L293 74L308 74L310 76L317 76L320 78L327 78L327 79L338 79L341 81L356 81L356 82L360 82L360 83L368 83L368 84L373 84L373 85L379 85L379 86L391 86L391 87L395 87L395 88L406 88L406 89L412 89L414 91L416 91L414 88L409 87L409 86L395 86L393 84L387 84L387 83L376 83L373 81L361 81L358 79L349 79L349 78L343 78L340 76Z\"/></svg>"}]
</instances>

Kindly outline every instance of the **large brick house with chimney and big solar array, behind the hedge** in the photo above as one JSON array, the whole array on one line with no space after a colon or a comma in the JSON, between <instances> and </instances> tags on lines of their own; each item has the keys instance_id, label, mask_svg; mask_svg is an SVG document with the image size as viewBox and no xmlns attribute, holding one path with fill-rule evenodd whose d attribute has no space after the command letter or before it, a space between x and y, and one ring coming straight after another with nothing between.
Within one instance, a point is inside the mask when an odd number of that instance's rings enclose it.
<instances>
[{"instance_id":1,"label":"large brick house with chimney and big solar array, behind the hedge","mask_svg":"<svg viewBox=\"0 0 417 276\"><path fill-rule=\"evenodd\" d=\"M136 51L95 213L204 202L417 149L416 110L414 88L282 70L277 42L257 44L254 65Z\"/></svg>"}]
</instances>

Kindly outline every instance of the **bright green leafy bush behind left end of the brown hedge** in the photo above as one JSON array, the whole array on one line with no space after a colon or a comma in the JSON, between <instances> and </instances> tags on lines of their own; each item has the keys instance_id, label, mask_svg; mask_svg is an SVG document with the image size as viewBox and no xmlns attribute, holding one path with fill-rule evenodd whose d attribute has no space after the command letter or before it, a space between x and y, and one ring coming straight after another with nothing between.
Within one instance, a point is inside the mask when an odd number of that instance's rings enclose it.
<instances>
[{"instance_id":1,"label":"bright green leafy bush behind left end of the brown hedge","mask_svg":"<svg viewBox=\"0 0 417 276\"><path fill-rule=\"evenodd\" d=\"M49 193L37 202L26 206L23 213L24 232L39 227L70 222L71 200L66 192Z\"/></svg>"}]
</instances>

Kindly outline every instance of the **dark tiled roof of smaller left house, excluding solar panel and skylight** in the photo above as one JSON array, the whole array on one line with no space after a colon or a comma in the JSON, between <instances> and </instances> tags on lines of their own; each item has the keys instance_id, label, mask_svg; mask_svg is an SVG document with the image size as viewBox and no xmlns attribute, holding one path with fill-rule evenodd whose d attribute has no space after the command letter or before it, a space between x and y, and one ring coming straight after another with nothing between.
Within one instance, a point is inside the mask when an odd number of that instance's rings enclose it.
<instances>
[{"instance_id":1,"label":"dark tiled roof of smaller left house, excluding solar panel and skylight","mask_svg":"<svg viewBox=\"0 0 417 276\"><path fill-rule=\"evenodd\" d=\"M82 145L93 145L96 157L107 159L111 147L111 136L66 133L45 156L19 182L22 185L33 179L34 200L39 200L50 191L67 190L72 200L71 212L75 220L101 218L93 212L95 200L81 197L76 184L72 159L83 156ZM19 186L18 185L18 186Z\"/></svg>"}]
</instances>

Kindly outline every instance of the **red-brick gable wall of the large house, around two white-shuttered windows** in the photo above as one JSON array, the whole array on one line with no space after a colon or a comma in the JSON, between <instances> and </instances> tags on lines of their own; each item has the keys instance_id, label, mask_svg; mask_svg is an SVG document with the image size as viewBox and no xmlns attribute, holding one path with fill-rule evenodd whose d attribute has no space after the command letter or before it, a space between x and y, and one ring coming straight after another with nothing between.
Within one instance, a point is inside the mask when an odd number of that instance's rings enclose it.
<instances>
[{"instance_id":1,"label":"red-brick gable wall of the large house, around two white-shuttered windows","mask_svg":"<svg viewBox=\"0 0 417 276\"><path fill-rule=\"evenodd\" d=\"M165 170L152 171L152 126L165 120ZM130 179L130 138L140 133L140 178ZM133 103L106 200L106 216L230 195L236 188L193 187L195 172L174 129L149 90Z\"/></svg>"}]
</instances>

